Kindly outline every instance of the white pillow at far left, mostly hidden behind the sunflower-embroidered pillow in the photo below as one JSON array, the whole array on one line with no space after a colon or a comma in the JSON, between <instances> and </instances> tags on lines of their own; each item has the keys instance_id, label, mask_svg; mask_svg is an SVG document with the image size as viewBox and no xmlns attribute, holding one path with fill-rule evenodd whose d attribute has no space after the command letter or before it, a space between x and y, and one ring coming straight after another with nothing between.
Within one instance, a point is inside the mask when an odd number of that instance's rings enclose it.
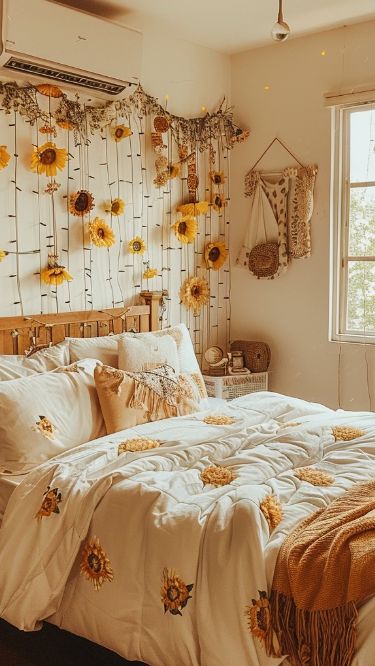
<instances>
[{"instance_id":1,"label":"white pillow at far left, mostly hidden behind the sunflower-embroidered pillow","mask_svg":"<svg viewBox=\"0 0 375 666\"><path fill-rule=\"evenodd\" d=\"M65 341L41 349L28 357L0 356L0 381L27 377L37 372L49 372L68 363L70 363L69 345Z\"/></svg>"}]
</instances>

